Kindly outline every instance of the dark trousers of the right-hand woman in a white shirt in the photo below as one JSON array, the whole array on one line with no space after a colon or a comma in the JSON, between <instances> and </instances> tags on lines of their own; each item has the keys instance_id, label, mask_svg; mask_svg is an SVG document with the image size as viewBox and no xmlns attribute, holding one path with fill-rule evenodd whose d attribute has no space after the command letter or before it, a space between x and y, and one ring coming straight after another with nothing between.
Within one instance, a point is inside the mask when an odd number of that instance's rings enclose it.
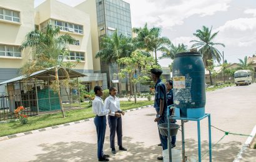
<instances>
[{"instance_id":1,"label":"dark trousers of the right-hand woman in a white shirt","mask_svg":"<svg viewBox=\"0 0 256 162\"><path fill-rule=\"evenodd\" d=\"M113 117L109 115L109 128L111 130L110 142L111 148L115 148L115 136L117 133L117 145L122 146L122 117Z\"/></svg>"}]
</instances>

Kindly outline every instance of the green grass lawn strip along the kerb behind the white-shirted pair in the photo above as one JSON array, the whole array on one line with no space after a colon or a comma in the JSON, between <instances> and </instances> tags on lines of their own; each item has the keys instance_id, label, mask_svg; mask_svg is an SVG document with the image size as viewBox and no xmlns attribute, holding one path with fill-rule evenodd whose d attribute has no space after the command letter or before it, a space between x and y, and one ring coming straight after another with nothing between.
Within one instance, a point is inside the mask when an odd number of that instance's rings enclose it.
<instances>
[{"instance_id":1,"label":"green grass lawn strip along the kerb behind the white-shirted pair","mask_svg":"<svg viewBox=\"0 0 256 162\"><path fill-rule=\"evenodd\" d=\"M145 105L152 105L153 103L154 101L137 101L136 104L134 102L121 101L121 108L122 110L129 110ZM88 103L82 103L82 109L66 111L66 118L62 118L62 114L59 112L54 114L40 115L37 117L29 117L29 122L26 125L21 125L19 121L0 123L0 136L12 135L24 131L37 130L40 128L46 128L48 126L92 118L95 116L92 113L92 108L84 108L87 107L87 104Z\"/></svg>"}]
</instances>

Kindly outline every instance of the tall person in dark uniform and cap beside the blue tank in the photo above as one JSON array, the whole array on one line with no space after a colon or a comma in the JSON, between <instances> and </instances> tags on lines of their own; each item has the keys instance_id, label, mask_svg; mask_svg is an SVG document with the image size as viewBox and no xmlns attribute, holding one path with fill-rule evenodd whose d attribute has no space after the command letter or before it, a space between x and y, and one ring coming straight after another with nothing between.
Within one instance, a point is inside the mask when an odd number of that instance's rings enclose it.
<instances>
[{"instance_id":1,"label":"tall person in dark uniform and cap beside the blue tank","mask_svg":"<svg viewBox=\"0 0 256 162\"><path fill-rule=\"evenodd\" d=\"M151 69L151 79L155 82L155 101L154 108L157 112L156 118L154 122L157 122L157 125L162 123L167 123L167 102L166 102L166 87L164 83L160 80L160 75L162 74L162 70L160 69ZM163 136L160 134L159 137L162 144L162 150L166 150L168 148L167 136ZM163 156L157 157L157 160L163 160Z\"/></svg>"}]
</instances>

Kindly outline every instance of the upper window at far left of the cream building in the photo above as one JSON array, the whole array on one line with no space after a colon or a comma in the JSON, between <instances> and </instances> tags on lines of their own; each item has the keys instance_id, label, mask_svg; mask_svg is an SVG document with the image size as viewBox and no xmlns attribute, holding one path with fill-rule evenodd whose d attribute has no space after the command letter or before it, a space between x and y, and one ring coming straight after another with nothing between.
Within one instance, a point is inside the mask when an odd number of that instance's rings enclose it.
<instances>
[{"instance_id":1,"label":"upper window at far left of the cream building","mask_svg":"<svg viewBox=\"0 0 256 162\"><path fill-rule=\"evenodd\" d=\"M12 11L0 7L0 19L14 22L21 22L18 11Z\"/></svg>"}]
</instances>

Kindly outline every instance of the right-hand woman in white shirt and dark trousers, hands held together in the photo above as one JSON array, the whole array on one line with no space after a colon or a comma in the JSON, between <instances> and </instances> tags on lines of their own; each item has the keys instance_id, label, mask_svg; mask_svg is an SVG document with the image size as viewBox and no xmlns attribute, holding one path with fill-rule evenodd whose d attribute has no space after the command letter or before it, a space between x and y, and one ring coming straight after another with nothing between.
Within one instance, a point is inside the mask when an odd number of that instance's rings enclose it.
<instances>
[{"instance_id":1,"label":"right-hand woman in white shirt and dark trousers, hands held together","mask_svg":"<svg viewBox=\"0 0 256 162\"><path fill-rule=\"evenodd\" d=\"M117 90L115 87L109 88L109 97L105 100L105 106L107 110L111 113L108 115L109 128L110 128L110 142L111 142L111 152L116 154L115 148L115 136L117 133L117 145L119 145L119 150L127 151L126 148L122 146L122 117L124 112L120 109L119 98L116 97Z\"/></svg>"}]
</instances>

